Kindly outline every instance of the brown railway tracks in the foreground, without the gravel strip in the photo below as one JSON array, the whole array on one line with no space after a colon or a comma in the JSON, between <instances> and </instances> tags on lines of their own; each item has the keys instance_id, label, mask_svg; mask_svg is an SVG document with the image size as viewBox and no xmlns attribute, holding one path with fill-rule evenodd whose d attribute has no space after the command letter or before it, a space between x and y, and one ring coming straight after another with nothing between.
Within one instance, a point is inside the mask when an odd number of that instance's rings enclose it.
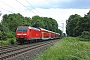
<instances>
[{"instance_id":1,"label":"brown railway tracks in the foreground, without the gravel strip","mask_svg":"<svg viewBox=\"0 0 90 60\"><path fill-rule=\"evenodd\" d=\"M27 51L40 48L46 46L48 44L52 44L57 40L50 40L44 42L38 42L33 44L25 44L25 45L10 45L10 46L0 46L0 60L10 59L19 54L25 53Z\"/></svg>"}]
</instances>

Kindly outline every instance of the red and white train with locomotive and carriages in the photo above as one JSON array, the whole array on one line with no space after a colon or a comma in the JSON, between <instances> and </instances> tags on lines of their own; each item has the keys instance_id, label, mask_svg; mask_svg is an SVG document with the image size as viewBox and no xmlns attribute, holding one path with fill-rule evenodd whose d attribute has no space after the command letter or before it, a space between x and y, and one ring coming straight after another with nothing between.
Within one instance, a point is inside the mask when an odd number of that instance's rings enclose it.
<instances>
[{"instance_id":1,"label":"red and white train with locomotive and carriages","mask_svg":"<svg viewBox=\"0 0 90 60\"><path fill-rule=\"evenodd\" d=\"M50 40L60 38L59 33L55 33L43 28L34 28L30 26L18 26L16 29L16 40L19 43L25 41Z\"/></svg>"}]
</instances>

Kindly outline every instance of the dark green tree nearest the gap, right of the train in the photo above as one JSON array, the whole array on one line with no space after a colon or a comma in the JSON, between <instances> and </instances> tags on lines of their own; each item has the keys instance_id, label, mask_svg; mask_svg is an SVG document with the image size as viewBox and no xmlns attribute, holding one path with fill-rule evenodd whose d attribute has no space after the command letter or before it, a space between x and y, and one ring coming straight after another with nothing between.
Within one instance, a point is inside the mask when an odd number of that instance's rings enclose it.
<instances>
[{"instance_id":1,"label":"dark green tree nearest the gap, right of the train","mask_svg":"<svg viewBox=\"0 0 90 60\"><path fill-rule=\"evenodd\" d=\"M78 14L71 15L69 19L66 21L66 33L68 36L77 36L78 34L78 28L77 24L80 20L81 16Z\"/></svg>"}]
</instances>

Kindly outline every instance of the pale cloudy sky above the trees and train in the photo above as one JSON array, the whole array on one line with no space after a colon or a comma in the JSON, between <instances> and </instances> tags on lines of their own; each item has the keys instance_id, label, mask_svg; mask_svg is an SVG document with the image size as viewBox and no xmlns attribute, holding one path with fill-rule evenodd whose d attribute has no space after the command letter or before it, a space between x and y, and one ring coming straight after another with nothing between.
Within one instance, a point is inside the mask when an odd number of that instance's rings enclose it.
<instances>
[{"instance_id":1,"label":"pale cloudy sky above the trees and train","mask_svg":"<svg viewBox=\"0 0 90 60\"><path fill-rule=\"evenodd\" d=\"M51 17L65 32L70 15L84 16L90 10L90 0L0 0L0 20L4 14L20 13L25 17Z\"/></svg>"}]
</instances>

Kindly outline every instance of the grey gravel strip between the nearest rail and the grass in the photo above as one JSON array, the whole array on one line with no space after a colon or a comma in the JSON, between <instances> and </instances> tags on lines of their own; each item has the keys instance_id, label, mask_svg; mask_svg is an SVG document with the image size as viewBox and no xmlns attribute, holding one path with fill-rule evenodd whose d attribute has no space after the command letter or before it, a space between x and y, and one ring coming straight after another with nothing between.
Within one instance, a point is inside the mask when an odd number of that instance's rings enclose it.
<instances>
[{"instance_id":1,"label":"grey gravel strip between the nearest rail and the grass","mask_svg":"<svg viewBox=\"0 0 90 60\"><path fill-rule=\"evenodd\" d=\"M46 50L50 46L51 45L40 47L40 48L34 49L32 51L25 52L25 53L23 53L19 56L16 56L10 60L32 60L36 55L42 53L44 50Z\"/></svg>"}]
</instances>

